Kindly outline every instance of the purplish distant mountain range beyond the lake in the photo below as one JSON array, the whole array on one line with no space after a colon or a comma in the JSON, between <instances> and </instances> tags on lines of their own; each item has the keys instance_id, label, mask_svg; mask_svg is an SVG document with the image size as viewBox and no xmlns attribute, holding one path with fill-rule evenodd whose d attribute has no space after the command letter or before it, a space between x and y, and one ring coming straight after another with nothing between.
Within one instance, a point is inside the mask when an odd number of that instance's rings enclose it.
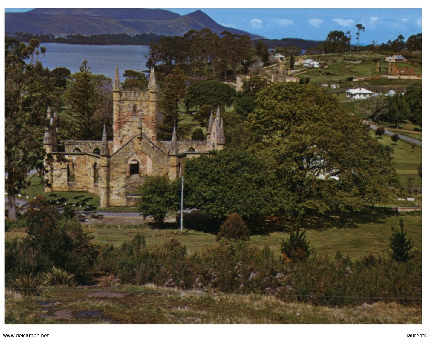
<instances>
[{"instance_id":1,"label":"purplish distant mountain range beyond the lake","mask_svg":"<svg viewBox=\"0 0 430 338\"><path fill-rule=\"evenodd\" d=\"M251 39L258 35L221 26L209 15L197 10L179 15L165 9L33 9L23 13L5 13L6 33L32 34L113 34L155 33L182 36L189 30L209 28L215 33L228 30L233 34L247 34Z\"/></svg>"}]
</instances>

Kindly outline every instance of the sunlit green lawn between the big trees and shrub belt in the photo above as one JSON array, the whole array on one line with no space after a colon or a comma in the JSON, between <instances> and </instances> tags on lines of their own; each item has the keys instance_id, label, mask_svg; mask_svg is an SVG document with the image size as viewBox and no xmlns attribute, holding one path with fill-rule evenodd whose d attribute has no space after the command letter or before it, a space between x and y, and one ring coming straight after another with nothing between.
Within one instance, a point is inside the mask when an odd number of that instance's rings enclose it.
<instances>
[{"instance_id":1,"label":"sunlit green lawn between the big trees and shrub belt","mask_svg":"<svg viewBox=\"0 0 430 338\"><path fill-rule=\"evenodd\" d=\"M334 259L338 250L344 256L350 256L352 260L372 253L375 256L387 256L389 250L389 238L391 227L398 226L403 219L407 236L412 238L415 249L421 250L421 212L390 213L373 219L370 222L357 223L355 226L344 228L328 228L325 230L308 229L306 236L310 246L314 248L317 256L328 256ZM172 224L172 229L150 229L138 225L111 225L90 226L95 242L119 246L123 241L130 241L137 233L144 234L147 247L164 244L171 238L175 238L187 247L188 253L199 252L206 247L212 247L216 243L213 234L186 230L184 232ZM24 229L12 229L5 233L6 238L25 236ZM288 238L288 232L272 232L268 235L254 235L250 244L262 249L268 245L273 250L275 257L280 256L280 245L283 239Z\"/></svg>"}]
</instances>

